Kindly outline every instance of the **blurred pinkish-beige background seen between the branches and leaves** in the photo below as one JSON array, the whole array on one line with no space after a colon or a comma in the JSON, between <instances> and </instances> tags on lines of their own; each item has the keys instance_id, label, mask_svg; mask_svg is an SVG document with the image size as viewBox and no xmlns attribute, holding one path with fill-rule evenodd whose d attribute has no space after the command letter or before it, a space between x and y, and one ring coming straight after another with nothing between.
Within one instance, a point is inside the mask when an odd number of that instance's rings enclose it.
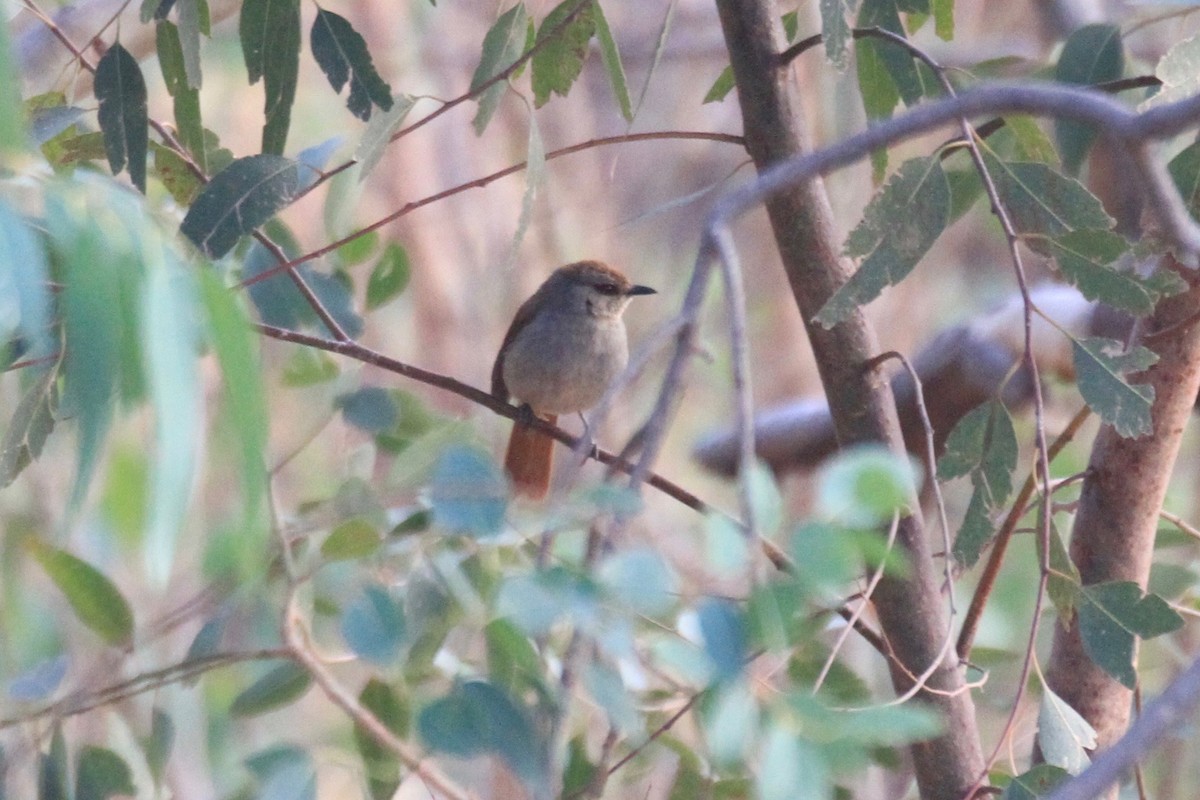
<instances>
[{"instance_id":1,"label":"blurred pinkish-beige background seen between the branches and leaves","mask_svg":"<svg viewBox=\"0 0 1200 800\"><path fill-rule=\"evenodd\" d=\"M530 0L527 5L530 14L540 19L557 4ZM796 6L802 37L820 30L816 6L816 2ZM350 19L367 38L376 66L395 92L419 98L409 116L412 122L436 110L439 101L467 91L479 62L480 42L504 4L439 0L434 7L425 0L376 0L338 1L324 7ZM781 10L790 7L791 4L785 4ZM42 8L56 14L62 28L83 43L104 24L118 5L112 0L83 0L61 8L50 5ZM212 37L203 42L206 72L200 92L205 125L215 130L222 144L235 155L250 155L257 152L259 146L263 90L260 85L246 84L236 35L236 4L214 0L210 8ZM1163 12L1171 12L1172 16L1154 22ZM570 96L554 97L534 113L547 152L602 137L638 132L740 133L734 95L728 95L722 102L702 102L727 64L710 2L608 2L605 13L620 48L637 112L635 120L628 124L622 119L599 53L593 52ZM313 14L312 6L304 7L305 30L311 25ZM119 30L121 42L134 55L150 53L152 28L140 25L136 17L137 8L131 6L119 24L108 29L103 40L112 41L113 32ZM1055 48L1070 30L1086 22L1112 22L1122 25L1127 34L1127 74L1151 74L1165 49L1184 38L1187 34L1182 31L1194 29L1200 14L1181 14L1174 6L1141 2L978 0L958 4L953 42L934 37L929 25L914 36L914 41L943 65L962 66L978 77L1050 74L1045 65L1054 64ZM64 66L70 61L68 54L48 37L29 11L18 10L10 24L16 31L18 54L29 78L26 96L50 86L70 86L68 101L77 100L86 107L94 103L85 76ZM660 41L664 42L661 46ZM990 61L986 72L972 66L985 60ZM814 49L799 58L793 70L817 146L864 127L853 62L850 70L839 73L824 61L820 49ZM151 118L169 119L169 98L157 68L152 64L143 64L143 72L150 82ZM962 77L970 78L967 73ZM301 58L300 82L287 151L290 155L331 138L341 138L342 144L330 161L340 163L353 154L365 126L344 113L342 101L334 97L311 58ZM527 77L518 79L516 85L520 94L510 91L505 95L499 112L481 137L475 136L470 125L475 104L463 103L389 148L379 166L361 182L356 172L350 170L289 207L283 218L301 248L320 247L406 204L523 161L529 140L532 100L522 97L529 94ZM926 155L948 136L952 132L911 142L892 154L890 163L895 166L908 156ZM666 139L587 149L554 158L547 164L546 180L536 193L532 219L518 242L515 234L526 192L526 176L521 172L432 203L380 230L384 240L400 242L407 249L412 283L397 302L367 318L360 341L402 361L486 389L496 350L521 301L556 266L589 258L618 266L637 283L659 290L659 295L636 302L626 314L630 339L636 349L638 342L678 311L701 228L714 198L751 179L748 157L734 144ZM841 234L845 235L857 224L862 209L876 188L870 167L859 164L830 176L826 182ZM958 222L912 277L900 287L886 290L869 306L868 314L884 349L912 354L940 330L970 320L1010 299L1015 291L1012 266L998 228L985 211L979 205ZM736 234L746 271L757 404L769 405L799 396L818 395L820 381L764 215L749 215L738 223ZM1031 258L1030 264L1034 279L1052 279L1045 264L1036 258ZM355 281L365 281L365 275L355 275ZM732 485L707 474L691 457L691 449L701 434L731 420L733 407L726 330L721 297L714 291L704 318L702 357L692 363L685 399L667 435L656 470L706 501L732 510L737 504ZM1014 336L1018 333L1014 331ZM293 350L292 345L277 342L263 343L270 367L283 365ZM601 445L619 450L625 438L644 420L658 389L664 359L658 357L654 365L622 398L608 426L595 432ZM268 369L269 375L277 373L278 369ZM209 378L212 385L208 391L215 392L216 375ZM431 409L468 420L491 443L497 455L508 435L508 421L457 396L415 383L403 384L396 375L370 367L347 366L342 378L324 391L332 402L348 385L358 384L398 385L421 398ZM271 408L269 459L280 463L292 453L299 453L278 471L275 483L278 507L298 509L306 501L337 494L348 479L370 481L394 469L389 456L370 446L368 435L340 421L329 423L330 405L314 403L313 390L295 391L282 385L268 389ZM5 409L5 419L11 415L18 398L14 383L0 385L0 408ZM1055 426L1061 426L1074 413L1079 399L1069 385L1054 385L1050 401L1052 437ZM564 425L570 427L576 421L568 420ZM120 531L122 521L127 522L128 515L133 513L125 507L127 501L115 498L125 497L121 481L132 480L130 475L139 469L144 440L151 429L149 414L136 414L119 421L110 459L94 487L96 511L89 516L88 525ZM1092 431L1090 428L1081 434L1061 459L1058 469L1062 475L1084 468ZM1019 470L1019 476L1024 479L1031 463L1030 419L1018 420L1018 432L1025 447ZM210 446L216 451L226 444L214 441ZM40 462L0 493L0 517L10 525L35 529L47 525L47 521L58 519L56 505L70 493L72 458L73 444L70 439L53 438ZM1184 445L1180 474L1169 498L1169 507L1184 516L1194 511L1192 498L1196 488L1196 462L1193 433ZM145 469L144 461L140 469ZM198 480L202 488L198 489L194 516L190 521L190 528L197 535L212 519L221 518L223 506L232 503L222 474L222 470L232 469L229 464L212 458L206 469L208 473ZM589 473L593 476L596 474ZM784 476L784 483L792 515L803 516L811 497L811 476ZM961 517L967 498L966 491L959 489L965 487L952 486L948 492L952 527ZM413 492L415 494L415 488ZM402 493L388 498L394 504L406 500L410 498ZM720 585L707 573L698 555L696 542L702 522L696 515L653 491L646 493L646 500L648 512L640 518L638 529L632 535L644 537L668 555L685 576L688 593L701 594ZM1069 522L1063 522L1063 525L1068 527ZM106 541L103 536L89 539L85 534L77 539L85 547L91 541L92 549L84 553L94 557L97 565L110 567L109 575L120 579L120 543L106 549L95 545ZM14 537L7 541L14 541ZM1187 569L1194 565L1194 547L1172 552L1176 554L1168 553L1165 561ZM12 553L10 558L14 558ZM979 666L995 670L991 680L1006 687L1015 679L1018 654L1024 646L1021 642L1032 613L1031 584L1036 561L1031 542L1019 542L1009 561L984 620L976 654ZM202 585L198 575L180 576L179 591L172 593L174 596L169 602L151 588L145 588L144 595L134 595L131 600L145 602L148 608L144 612L139 608L139 614L155 618L166 614L190 591L199 593ZM970 577L959 585L960 599L966 595L968 585ZM36 607L55 600L18 601L10 597L7 602L32 603ZM186 642L194 630L194 624L186 626L187 636L182 640ZM11 633L25 642L36 642L42 636L37 631ZM1182 657L1178 654L1192 649L1187 646L1192 638L1195 638L1194 632L1186 631L1171 643L1151 643L1144 663L1147 660L1160 663L1163 676L1172 674L1174 664ZM178 639L173 640L178 649ZM163 648L167 646L164 643ZM34 645L26 651L37 649ZM48 650L49 646L42 649ZM18 650L20 648L12 648L12 651ZM870 656L866 661L871 661ZM884 676L880 674L872 673L871 680L886 692ZM1144 672L1142 676L1154 680L1156 672ZM215 687L210 691L224 691L227 696L234 691L230 686L222 688L221 681L206 685ZM181 703L196 702L185 699L186 690L173 687L168 691L178 692L176 699ZM991 747L995 742L989 740L989 730L998 730L1010 696L1007 691L994 694L985 687L978 698L982 714L995 714L994 728L988 722L982 724L984 745ZM1027 710L1027 715L1033 714L1036 706ZM1032 717L1028 722L1032 726ZM203 750L203 732L181 729L180 735L196 739L192 744ZM1014 742L1022 757L1030 745L1030 738ZM1180 747L1183 747L1182 742ZM1200 765L1193 754L1168 753L1160 756L1157 763L1164 776L1160 784L1164 793L1156 796L1172 796L1165 788L1169 781L1176 781L1181 787L1200 786ZM1164 764L1171 768L1164 770ZM188 768L184 765L179 769ZM211 796L208 793L206 769L200 765L197 770L191 789L194 793L181 790L176 796ZM1168 778L1168 775L1174 777ZM329 796L341 795L331 793ZM1190 795L1182 788L1174 796Z\"/></svg>"}]
</instances>

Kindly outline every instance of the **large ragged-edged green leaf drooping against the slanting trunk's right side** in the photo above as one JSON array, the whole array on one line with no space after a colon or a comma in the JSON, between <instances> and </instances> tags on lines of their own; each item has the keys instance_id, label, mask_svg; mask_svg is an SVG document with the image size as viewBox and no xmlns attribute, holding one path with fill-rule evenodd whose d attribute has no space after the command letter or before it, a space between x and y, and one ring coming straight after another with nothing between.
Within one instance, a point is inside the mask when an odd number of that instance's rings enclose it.
<instances>
[{"instance_id":1,"label":"large ragged-edged green leaf drooping against the slanting trunk's right side","mask_svg":"<svg viewBox=\"0 0 1200 800\"><path fill-rule=\"evenodd\" d=\"M937 156L905 162L876 194L846 240L846 254L865 255L815 321L833 327L858 306L912 272L949 222L950 187Z\"/></svg>"}]
</instances>

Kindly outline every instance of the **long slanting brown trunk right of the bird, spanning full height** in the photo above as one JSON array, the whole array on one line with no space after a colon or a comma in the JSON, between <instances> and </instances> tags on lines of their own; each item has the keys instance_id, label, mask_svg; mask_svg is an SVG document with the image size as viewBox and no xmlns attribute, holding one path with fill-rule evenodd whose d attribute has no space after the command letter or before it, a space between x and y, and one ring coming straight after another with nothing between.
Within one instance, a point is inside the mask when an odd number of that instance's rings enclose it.
<instances>
[{"instance_id":1,"label":"long slanting brown trunk right of the bird, spanning full height","mask_svg":"<svg viewBox=\"0 0 1200 800\"><path fill-rule=\"evenodd\" d=\"M809 149L796 84L776 64L779 11L770 0L718 0L730 61L738 88L746 149L760 170ZM792 294L804 318L840 445L878 441L902 453L904 444L888 381L866 367L878 353L874 331L862 314L832 330L812 317L848 275L839 254L829 201L820 180L792 186L767 200ZM916 504L914 506L916 507ZM937 709L946 733L913 746L913 766L922 798L959 800L983 772L974 705L964 690L953 648L940 651L949 636L944 602L919 515L900 523L898 541L912 564L906 579L886 577L875 593L881 625L908 673L937 663L928 686L938 693L918 697ZM911 678L893 668L902 692Z\"/></svg>"}]
</instances>

